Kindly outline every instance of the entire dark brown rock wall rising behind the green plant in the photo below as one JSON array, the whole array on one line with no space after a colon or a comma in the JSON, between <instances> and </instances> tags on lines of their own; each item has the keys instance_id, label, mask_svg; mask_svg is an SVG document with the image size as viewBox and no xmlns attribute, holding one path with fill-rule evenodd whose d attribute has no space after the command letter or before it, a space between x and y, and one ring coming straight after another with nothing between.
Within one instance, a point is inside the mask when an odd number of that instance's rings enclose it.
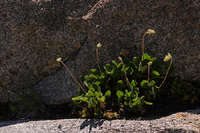
<instances>
[{"instance_id":1,"label":"entire dark brown rock wall rising behind the green plant","mask_svg":"<svg viewBox=\"0 0 200 133\"><path fill-rule=\"evenodd\" d=\"M0 82L9 90L26 90L41 80L34 89L46 103L69 102L77 86L58 71L57 57L72 56L65 62L78 77L96 65L97 42L103 44L101 64L123 49L136 56L148 28L156 35L146 37L145 51L160 58L170 52L179 76L200 80L198 1L8 0L0 7Z\"/></svg>"}]
</instances>

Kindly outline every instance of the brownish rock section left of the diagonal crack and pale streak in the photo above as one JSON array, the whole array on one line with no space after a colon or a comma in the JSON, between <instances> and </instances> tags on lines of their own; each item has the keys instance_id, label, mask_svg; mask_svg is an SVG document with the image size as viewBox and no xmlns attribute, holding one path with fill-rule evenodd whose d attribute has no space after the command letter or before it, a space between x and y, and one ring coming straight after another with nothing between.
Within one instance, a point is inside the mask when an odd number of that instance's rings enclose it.
<instances>
[{"instance_id":1,"label":"brownish rock section left of the diagonal crack and pale streak","mask_svg":"<svg viewBox=\"0 0 200 133\"><path fill-rule=\"evenodd\" d=\"M1 102L54 74L60 67L57 57L76 55L87 34L71 26L67 17L80 17L94 4L95 0L0 1Z\"/></svg>"}]
</instances>

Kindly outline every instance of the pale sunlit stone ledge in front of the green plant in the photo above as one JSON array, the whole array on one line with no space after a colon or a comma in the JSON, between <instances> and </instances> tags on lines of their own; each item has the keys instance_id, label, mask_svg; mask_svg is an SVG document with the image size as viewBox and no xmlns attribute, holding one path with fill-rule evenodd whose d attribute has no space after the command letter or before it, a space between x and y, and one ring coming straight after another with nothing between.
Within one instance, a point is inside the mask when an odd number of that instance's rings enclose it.
<instances>
[{"instance_id":1,"label":"pale sunlit stone ledge in front of the green plant","mask_svg":"<svg viewBox=\"0 0 200 133\"><path fill-rule=\"evenodd\" d=\"M62 119L0 122L0 133L199 133L200 110L153 120Z\"/></svg>"}]
</instances>

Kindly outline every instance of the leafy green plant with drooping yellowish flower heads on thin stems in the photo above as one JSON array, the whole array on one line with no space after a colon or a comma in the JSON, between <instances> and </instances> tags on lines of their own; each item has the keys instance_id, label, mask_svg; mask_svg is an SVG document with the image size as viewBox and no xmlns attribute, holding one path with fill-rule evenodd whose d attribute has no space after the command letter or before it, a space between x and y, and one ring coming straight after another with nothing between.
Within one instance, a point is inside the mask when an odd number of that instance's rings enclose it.
<instances>
[{"instance_id":1,"label":"leafy green plant with drooping yellowish flower heads on thin stems","mask_svg":"<svg viewBox=\"0 0 200 133\"><path fill-rule=\"evenodd\" d=\"M144 53L144 37L148 34L155 34L155 31L149 29L144 33L141 57L122 56L103 67L98 51L102 45L97 44L98 68L90 69L90 74L82 76L82 84L60 58L57 60L79 85L79 96L72 100L80 107L81 117L116 118L128 113L141 114L156 101L170 71L172 56L168 53L164 63Z\"/></svg>"}]
</instances>

